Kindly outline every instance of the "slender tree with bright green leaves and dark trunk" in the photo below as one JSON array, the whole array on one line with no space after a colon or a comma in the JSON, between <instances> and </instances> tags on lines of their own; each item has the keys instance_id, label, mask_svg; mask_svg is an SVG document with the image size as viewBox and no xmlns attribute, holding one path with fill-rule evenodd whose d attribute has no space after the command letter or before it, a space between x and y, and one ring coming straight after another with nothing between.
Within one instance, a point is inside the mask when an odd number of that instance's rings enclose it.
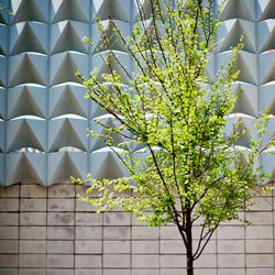
<instances>
[{"instance_id":1,"label":"slender tree with bright green leaves and dark trunk","mask_svg":"<svg viewBox=\"0 0 275 275\"><path fill-rule=\"evenodd\" d=\"M75 180L90 182L87 193L100 193L99 198L80 197L98 212L120 207L151 226L173 222L186 246L187 274L193 275L194 261L219 224L239 219L238 213L251 206L255 187L266 188L261 185L261 167L254 167L266 113L255 123L258 139L251 140L249 148L238 146L249 131L241 121L233 133L226 134L238 98L232 86L242 43L232 48L213 76L208 74L219 24L212 0L176 0L175 7L168 0L147 0L145 4L151 8L150 15L136 1L140 21L131 37L124 37L111 18L112 35L97 20L100 48L86 41L109 72L99 75L96 68L89 79L77 73L88 87L86 97L117 121L113 127L98 120L106 134L89 133L112 150L129 174L116 179L98 180L88 175L86 180ZM118 44L129 52L135 72L113 50ZM123 139L119 144L118 135ZM136 146L143 148L136 151ZM129 190L132 196L114 198L112 188ZM201 226L197 248L195 222Z\"/></svg>"}]
</instances>

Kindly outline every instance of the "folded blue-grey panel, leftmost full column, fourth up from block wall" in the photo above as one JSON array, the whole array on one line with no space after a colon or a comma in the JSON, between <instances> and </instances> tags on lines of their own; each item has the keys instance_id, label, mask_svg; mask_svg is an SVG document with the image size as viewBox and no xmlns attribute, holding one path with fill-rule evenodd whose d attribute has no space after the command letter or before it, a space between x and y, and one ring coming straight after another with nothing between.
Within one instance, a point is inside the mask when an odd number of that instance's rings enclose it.
<instances>
[{"instance_id":1,"label":"folded blue-grey panel, leftmost full column, fourth up from block wall","mask_svg":"<svg viewBox=\"0 0 275 275\"><path fill-rule=\"evenodd\" d=\"M37 84L45 86L45 79L46 79L45 56L23 54L11 57L10 77L11 77L10 87L21 84Z\"/></svg>"}]
</instances>

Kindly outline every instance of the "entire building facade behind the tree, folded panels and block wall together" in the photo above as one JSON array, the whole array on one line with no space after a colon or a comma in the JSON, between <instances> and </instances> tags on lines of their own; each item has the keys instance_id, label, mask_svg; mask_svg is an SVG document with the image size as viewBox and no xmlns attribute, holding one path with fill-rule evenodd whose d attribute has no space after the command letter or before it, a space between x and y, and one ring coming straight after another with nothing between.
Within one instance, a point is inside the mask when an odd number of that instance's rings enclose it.
<instances>
[{"instance_id":1,"label":"entire building facade behind the tree, folded panels and block wall together","mask_svg":"<svg viewBox=\"0 0 275 275\"><path fill-rule=\"evenodd\" d=\"M148 228L121 211L98 216L76 198L85 187L68 182L88 172L99 178L124 174L105 144L86 136L87 128L102 131L96 118L110 119L84 99L86 87L75 72L108 72L81 40L87 36L100 47L94 14L110 36L109 15L129 35L138 21L135 1L1 0L1 7L0 274L184 274L185 251L173 226ZM220 20L217 38L223 41L209 74L245 32L234 86L243 94L231 121L250 125L267 108L266 143L275 133L275 1L228 0ZM133 66L123 45L114 43L113 50ZM246 135L239 145L249 143ZM263 151L261 164L274 178L270 151ZM274 193L258 199L252 212L241 213L253 226L222 224L197 274L274 275Z\"/></svg>"}]
</instances>

